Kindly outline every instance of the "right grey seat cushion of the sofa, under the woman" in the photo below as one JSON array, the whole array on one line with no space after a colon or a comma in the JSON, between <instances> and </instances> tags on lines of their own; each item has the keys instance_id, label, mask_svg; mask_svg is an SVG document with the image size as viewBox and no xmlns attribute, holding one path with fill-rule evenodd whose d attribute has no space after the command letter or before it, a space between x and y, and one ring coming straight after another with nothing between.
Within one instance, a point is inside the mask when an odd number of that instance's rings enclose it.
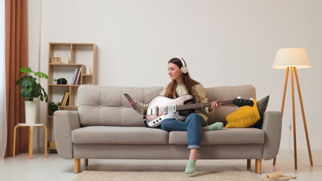
<instances>
[{"instance_id":1,"label":"right grey seat cushion of the sofa, under the woman","mask_svg":"<svg viewBox=\"0 0 322 181\"><path fill-rule=\"evenodd\" d=\"M202 145L263 144L265 132L257 128L225 128L203 132ZM169 144L188 145L186 132L169 132Z\"/></svg>"}]
</instances>

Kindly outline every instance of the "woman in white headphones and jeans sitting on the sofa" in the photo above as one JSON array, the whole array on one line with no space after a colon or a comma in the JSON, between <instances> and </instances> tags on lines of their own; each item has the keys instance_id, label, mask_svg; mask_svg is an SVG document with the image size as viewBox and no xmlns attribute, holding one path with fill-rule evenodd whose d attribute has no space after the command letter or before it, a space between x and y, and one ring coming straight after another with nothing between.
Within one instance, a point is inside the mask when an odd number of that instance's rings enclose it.
<instances>
[{"instance_id":1,"label":"woman in white headphones and jeans sitting on the sofa","mask_svg":"<svg viewBox=\"0 0 322 181\"><path fill-rule=\"evenodd\" d=\"M171 99L180 97L182 95L195 96L196 103L206 103L208 99L204 92L204 86L199 82L191 79L188 69L186 68L186 62L183 58L172 58L168 62L168 73L171 77L171 82L166 88L164 88L160 95L169 97ZM147 110L147 104L142 104L136 100L135 103L140 109L138 113L144 114ZM207 124L208 117L205 114L212 114L214 110L220 108L222 105L218 104L218 101L212 101L211 107L198 108L194 113L189 114L184 121L178 121L175 119L164 119L161 123L161 129L167 132L172 131L187 131L188 142L190 149L189 162L186 165L186 174L193 173L195 171L195 162L197 160L197 152L200 149L200 143L202 141L202 131L222 130L224 124L217 122L212 125ZM133 107L131 101L127 100L129 105ZM207 126L208 125L208 126Z\"/></svg>"}]
</instances>

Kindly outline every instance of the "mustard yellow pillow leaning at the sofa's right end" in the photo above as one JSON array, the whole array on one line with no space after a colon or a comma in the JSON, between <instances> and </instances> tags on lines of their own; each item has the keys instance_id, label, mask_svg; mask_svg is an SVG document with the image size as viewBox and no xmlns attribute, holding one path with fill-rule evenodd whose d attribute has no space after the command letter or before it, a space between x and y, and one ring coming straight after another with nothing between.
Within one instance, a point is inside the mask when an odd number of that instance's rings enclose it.
<instances>
[{"instance_id":1,"label":"mustard yellow pillow leaning at the sofa's right end","mask_svg":"<svg viewBox=\"0 0 322 181\"><path fill-rule=\"evenodd\" d=\"M261 117L257 108L257 101L253 99L254 106L243 106L227 115L225 128L246 128L254 125Z\"/></svg>"}]
</instances>

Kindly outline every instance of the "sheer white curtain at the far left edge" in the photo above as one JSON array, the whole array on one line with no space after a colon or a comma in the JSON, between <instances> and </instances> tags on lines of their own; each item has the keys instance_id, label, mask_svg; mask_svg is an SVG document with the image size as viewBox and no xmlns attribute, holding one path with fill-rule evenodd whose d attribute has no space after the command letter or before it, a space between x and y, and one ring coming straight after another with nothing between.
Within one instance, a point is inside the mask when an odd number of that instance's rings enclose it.
<instances>
[{"instance_id":1,"label":"sheer white curtain at the far left edge","mask_svg":"<svg viewBox=\"0 0 322 181\"><path fill-rule=\"evenodd\" d=\"M7 145L6 69L5 69L5 0L0 0L0 158Z\"/></svg>"}]
</instances>

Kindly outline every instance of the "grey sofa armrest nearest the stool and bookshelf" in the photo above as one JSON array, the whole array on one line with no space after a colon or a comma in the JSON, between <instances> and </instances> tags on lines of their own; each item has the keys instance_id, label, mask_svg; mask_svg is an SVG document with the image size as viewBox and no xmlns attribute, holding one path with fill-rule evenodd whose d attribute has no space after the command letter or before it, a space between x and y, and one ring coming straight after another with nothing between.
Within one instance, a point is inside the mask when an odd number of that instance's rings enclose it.
<instances>
[{"instance_id":1,"label":"grey sofa armrest nearest the stool and bookshelf","mask_svg":"<svg viewBox=\"0 0 322 181\"><path fill-rule=\"evenodd\" d=\"M73 158L72 130L81 128L78 112L57 110L54 112L54 134L59 156Z\"/></svg>"}]
</instances>

